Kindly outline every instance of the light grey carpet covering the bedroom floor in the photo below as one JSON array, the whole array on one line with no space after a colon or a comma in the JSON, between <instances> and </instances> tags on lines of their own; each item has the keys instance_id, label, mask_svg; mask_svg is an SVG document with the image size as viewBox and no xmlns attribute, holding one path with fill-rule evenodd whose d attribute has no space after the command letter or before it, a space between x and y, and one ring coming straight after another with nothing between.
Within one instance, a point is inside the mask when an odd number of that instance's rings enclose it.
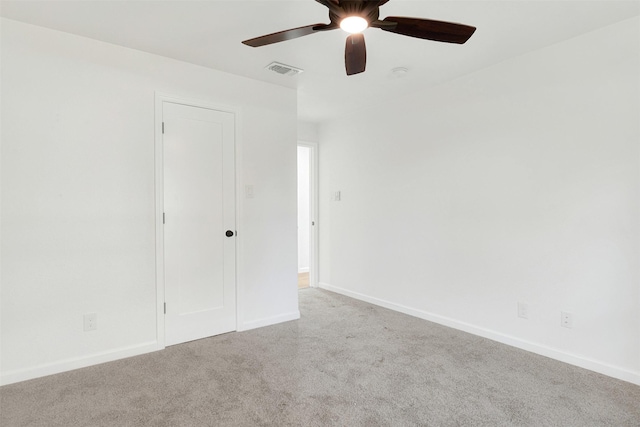
<instances>
[{"instance_id":1,"label":"light grey carpet covering the bedroom floor","mask_svg":"<svg viewBox=\"0 0 640 427\"><path fill-rule=\"evenodd\" d=\"M4 426L640 426L640 387L317 289L299 321L0 388Z\"/></svg>"}]
</instances>

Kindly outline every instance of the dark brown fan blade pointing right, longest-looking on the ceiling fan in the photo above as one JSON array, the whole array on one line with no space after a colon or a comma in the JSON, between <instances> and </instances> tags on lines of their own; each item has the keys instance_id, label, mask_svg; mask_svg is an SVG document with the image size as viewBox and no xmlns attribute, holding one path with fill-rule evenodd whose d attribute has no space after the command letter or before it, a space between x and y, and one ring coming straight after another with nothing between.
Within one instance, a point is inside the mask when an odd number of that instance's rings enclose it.
<instances>
[{"instance_id":1,"label":"dark brown fan blade pointing right, longest-looking on the ceiling fan","mask_svg":"<svg viewBox=\"0 0 640 427\"><path fill-rule=\"evenodd\" d=\"M405 18L400 16L387 16L382 22L395 22L398 24L393 28L380 26L384 31L446 43L463 44L469 40L469 37L471 37L476 30L476 27L455 24L453 22Z\"/></svg>"}]
</instances>

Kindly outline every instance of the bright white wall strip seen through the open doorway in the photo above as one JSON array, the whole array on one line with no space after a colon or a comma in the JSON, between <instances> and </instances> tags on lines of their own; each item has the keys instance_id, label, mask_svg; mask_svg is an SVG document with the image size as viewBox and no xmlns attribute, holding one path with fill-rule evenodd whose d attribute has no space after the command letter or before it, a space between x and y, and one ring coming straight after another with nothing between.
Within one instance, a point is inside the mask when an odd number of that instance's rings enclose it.
<instances>
[{"instance_id":1,"label":"bright white wall strip seen through the open doorway","mask_svg":"<svg viewBox=\"0 0 640 427\"><path fill-rule=\"evenodd\" d=\"M298 146L298 273L309 271L311 149Z\"/></svg>"}]
</instances>

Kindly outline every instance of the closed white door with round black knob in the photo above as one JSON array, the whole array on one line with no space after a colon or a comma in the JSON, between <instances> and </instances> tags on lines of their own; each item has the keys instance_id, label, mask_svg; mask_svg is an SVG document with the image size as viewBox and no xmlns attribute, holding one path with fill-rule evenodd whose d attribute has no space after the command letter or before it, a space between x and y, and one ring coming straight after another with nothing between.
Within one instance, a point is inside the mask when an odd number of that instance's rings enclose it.
<instances>
[{"instance_id":1,"label":"closed white door with round black knob","mask_svg":"<svg viewBox=\"0 0 640 427\"><path fill-rule=\"evenodd\" d=\"M236 330L235 123L231 113L171 102L162 120L165 345L173 345Z\"/></svg>"}]
</instances>

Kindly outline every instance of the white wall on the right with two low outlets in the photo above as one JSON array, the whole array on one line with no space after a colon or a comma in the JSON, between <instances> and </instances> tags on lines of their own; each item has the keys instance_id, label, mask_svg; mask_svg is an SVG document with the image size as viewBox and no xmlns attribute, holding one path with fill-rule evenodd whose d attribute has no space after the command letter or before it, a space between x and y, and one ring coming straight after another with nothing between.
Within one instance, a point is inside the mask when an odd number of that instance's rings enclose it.
<instances>
[{"instance_id":1,"label":"white wall on the right with two low outlets","mask_svg":"<svg viewBox=\"0 0 640 427\"><path fill-rule=\"evenodd\" d=\"M321 286L640 384L639 28L321 125Z\"/></svg>"}]
</instances>

